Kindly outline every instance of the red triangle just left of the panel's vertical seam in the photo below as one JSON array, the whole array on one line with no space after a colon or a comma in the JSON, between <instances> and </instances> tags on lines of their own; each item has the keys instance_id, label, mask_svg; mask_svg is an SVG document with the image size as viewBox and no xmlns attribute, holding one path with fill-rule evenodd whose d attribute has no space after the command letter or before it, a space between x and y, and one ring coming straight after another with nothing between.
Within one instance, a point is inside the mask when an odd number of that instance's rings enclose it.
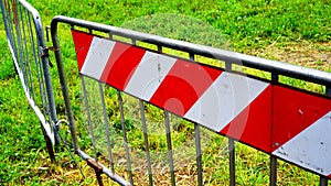
<instances>
[{"instance_id":1,"label":"red triangle just left of the panel's vertical seam","mask_svg":"<svg viewBox=\"0 0 331 186\"><path fill-rule=\"evenodd\" d=\"M221 133L270 153L271 86L268 86Z\"/></svg>"}]
</instances>

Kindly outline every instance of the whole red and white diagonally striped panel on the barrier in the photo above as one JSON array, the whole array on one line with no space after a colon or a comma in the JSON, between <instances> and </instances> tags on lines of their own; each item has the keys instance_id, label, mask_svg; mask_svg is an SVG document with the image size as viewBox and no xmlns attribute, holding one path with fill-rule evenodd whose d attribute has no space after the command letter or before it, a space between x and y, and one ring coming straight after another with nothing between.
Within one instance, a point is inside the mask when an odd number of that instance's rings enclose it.
<instances>
[{"instance_id":1,"label":"whole red and white diagonally striped panel on the barrier","mask_svg":"<svg viewBox=\"0 0 331 186\"><path fill-rule=\"evenodd\" d=\"M72 31L81 74L264 152L331 174L331 100Z\"/></svg>"}]
</instances>

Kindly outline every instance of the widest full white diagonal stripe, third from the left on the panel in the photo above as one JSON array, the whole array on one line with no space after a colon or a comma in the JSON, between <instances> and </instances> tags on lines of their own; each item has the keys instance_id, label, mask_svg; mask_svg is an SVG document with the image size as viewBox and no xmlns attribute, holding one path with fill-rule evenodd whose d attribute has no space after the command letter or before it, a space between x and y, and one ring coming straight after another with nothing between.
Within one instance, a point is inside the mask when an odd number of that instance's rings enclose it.
<instances>
[{"instance_id":1,"label":"widest full white diagonal stripe, third from the left on the panel","mask_svg":"<svg viewBox=\"0 0 331 186\"><path fill-rule=\"evenodd\" d=\"M220 132L268 85L260 80L224 72L184 118Z\"/></svg>"}]
</instances>

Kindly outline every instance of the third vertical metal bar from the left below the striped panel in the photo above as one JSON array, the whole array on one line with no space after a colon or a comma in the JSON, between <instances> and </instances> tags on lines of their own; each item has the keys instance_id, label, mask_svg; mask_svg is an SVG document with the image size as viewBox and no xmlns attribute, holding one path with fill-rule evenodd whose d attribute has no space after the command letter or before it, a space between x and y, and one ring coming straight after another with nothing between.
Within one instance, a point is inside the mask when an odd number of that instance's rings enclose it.
<instances>
[{"instance_id":1,"label":"third vertical metal bar from the left below the striped panel","mask_svg":"<svg viewBox=\"0 0 331 186\"><path fill-rule=\"evenodd\" d=\"M130 152L129 152L128 139L127 139L127 128L126 128L126 122L125 122L125 116L124 116L124 110L122 110L122 98L121 98L119 90L117 90L117 98L118 98L119 112L120 112L120 123L121 123L121 130L122 130L124 145L126 149L126 157L128 161L127 165L128 165L128 172L129 172L129 177L130 177L130 184L134 185L131 157L130 157Z\"/></svg>"}]
</instances>

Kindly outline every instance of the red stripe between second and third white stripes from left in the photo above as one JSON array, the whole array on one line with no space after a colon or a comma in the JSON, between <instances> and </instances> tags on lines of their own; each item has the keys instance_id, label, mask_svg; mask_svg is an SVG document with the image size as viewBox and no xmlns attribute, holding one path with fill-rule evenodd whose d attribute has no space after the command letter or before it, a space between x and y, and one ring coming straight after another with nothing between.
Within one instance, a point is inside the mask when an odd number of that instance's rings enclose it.
<instances>
[{"instance_id":1,"label":"red stripe between second and third white stripes from left","mask_svg":"<svg viewBox=\"0 0 331 186\"><path fill-rule=\"evenodd\" d=\"M178 59L150 102L184 116L221 73L211 67Z\"/></svg>"}]
</instances>

